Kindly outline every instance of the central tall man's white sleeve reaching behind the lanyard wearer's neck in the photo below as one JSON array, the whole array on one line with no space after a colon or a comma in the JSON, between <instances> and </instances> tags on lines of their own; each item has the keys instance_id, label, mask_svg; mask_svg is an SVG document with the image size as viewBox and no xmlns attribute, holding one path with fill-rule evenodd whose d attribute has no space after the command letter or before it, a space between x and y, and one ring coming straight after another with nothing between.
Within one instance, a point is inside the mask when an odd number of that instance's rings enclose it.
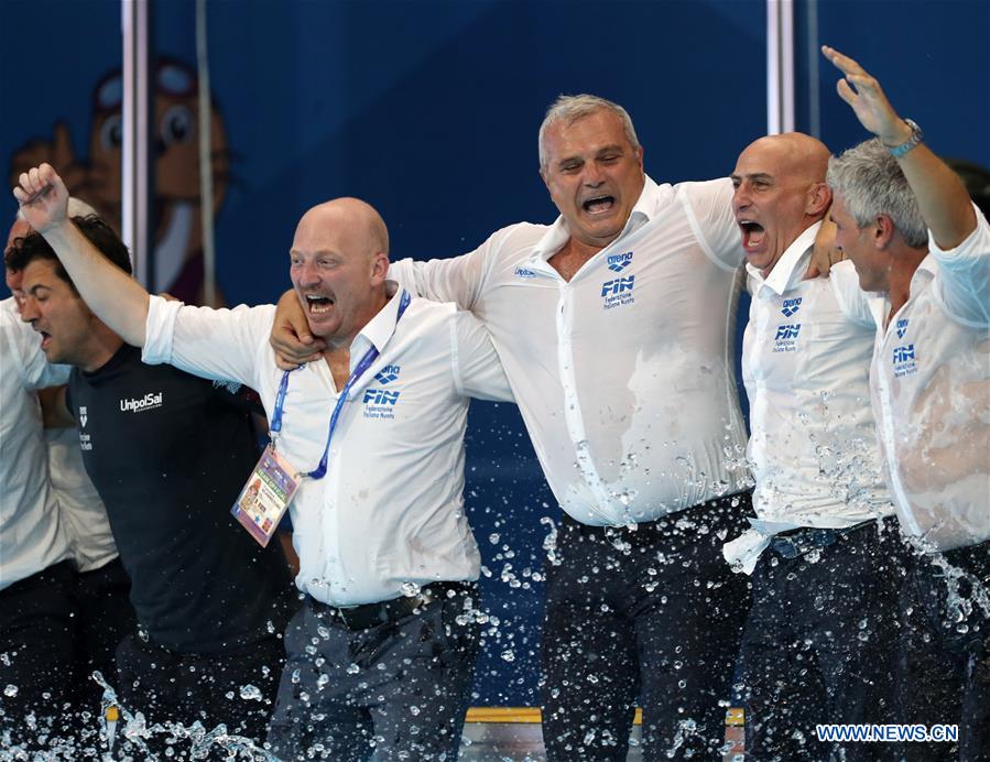
<instances>
[{"instance_id":1,"label":"central tall man's white sleeve reaching behind the lanyard wearer's neck","mask_svg":"<svg viewBox=\"0 0 990 762\"><path fill-rule=\"evenodd\" d=\"M498 230L477 249L460 257L393 262L389 277L399 281L415 296L453 302L459 309L471 311L481 296L499 250L515 227Z\"/></svg>"}]
</instances>

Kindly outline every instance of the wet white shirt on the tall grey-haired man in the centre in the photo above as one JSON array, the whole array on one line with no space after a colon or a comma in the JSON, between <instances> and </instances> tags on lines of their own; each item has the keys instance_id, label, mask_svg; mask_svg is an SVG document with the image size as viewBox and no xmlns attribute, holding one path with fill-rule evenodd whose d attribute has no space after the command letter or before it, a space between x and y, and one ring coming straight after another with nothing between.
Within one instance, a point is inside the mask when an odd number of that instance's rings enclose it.
<instances>
[{"instance_id":1,"label":"wet white shirt on the tall grey-haired man in the centre","mask_svg":"<svg viewBox=\"0 0 990 762\"><path fill-rule=\"evenodd\" d=\"M733 372L742 247L729 179L656 185L568 282L563 218L463 257L392 265L491 331L557 501L592 525L653 521L750 486Z\"/></svg>"}]
</instances>

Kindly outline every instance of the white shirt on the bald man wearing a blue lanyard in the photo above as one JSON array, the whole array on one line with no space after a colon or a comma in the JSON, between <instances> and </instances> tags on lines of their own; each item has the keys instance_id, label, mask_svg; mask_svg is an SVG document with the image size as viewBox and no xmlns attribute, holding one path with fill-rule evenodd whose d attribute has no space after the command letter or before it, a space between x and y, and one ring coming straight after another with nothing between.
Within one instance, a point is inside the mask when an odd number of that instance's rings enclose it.
<instances>
[{"instance_id":1,"label":"white shirt on the bald man wearing a blue lanyard","mask_svg":"<svg viewBox=\"0 0 990 762\"><path fill-rule=\"evenodd\" d=\"M479 574L461 496L468 398L511 393L471 315L413 300L396 322L400 296L351 344L351 371L371 346L380 355L344 404L326 476L304 478L290 508L296 585L333 606ZM248 384L271 417L283 377L268 340L274 314L270 305L208 309L153 296L142 357ZM278 448L297 470L319 462L338 399L326 362L290 374Z\"/></svg>"}]
</instances>

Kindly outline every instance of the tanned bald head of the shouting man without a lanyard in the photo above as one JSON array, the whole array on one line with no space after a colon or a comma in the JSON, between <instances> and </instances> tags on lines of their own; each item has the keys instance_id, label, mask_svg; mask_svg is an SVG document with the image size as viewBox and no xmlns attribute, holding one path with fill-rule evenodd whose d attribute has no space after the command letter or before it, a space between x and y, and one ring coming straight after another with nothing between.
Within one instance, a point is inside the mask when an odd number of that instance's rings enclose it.
<instances>
[{"instance_id":1,"label":"tanned bald head of the shouting man without a lanyard","mask_svg":"<svg viewBox=\"0 0 990 762\"><path fill-rule=\"evenodd\" d=\"M739 154L732 208L747 259L764 276L828 211L828 157L822 141L801 132L760 138Z\"/></svg>"}]
</instances>

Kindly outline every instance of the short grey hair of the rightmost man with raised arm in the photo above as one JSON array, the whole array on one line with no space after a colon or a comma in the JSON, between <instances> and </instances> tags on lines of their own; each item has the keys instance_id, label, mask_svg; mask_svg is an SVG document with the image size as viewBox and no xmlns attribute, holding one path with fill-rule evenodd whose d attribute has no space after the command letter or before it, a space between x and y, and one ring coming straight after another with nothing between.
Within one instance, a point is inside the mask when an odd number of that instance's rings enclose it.
<instances>
[{"instance_id":1,"label":"short grey hair of the rightmost man with raised arm","mask_svg":"<svg viewBox=\"0 0 990 762\"><path fill-rule=\"evenodd\" d=\"M897 160L879 139L829 159L826 182L842 196L846 209L860 228L879 215L886 215L907 246L921 248L928 242L928 229L914 192Z\"/></svg>"}]
</instances>

